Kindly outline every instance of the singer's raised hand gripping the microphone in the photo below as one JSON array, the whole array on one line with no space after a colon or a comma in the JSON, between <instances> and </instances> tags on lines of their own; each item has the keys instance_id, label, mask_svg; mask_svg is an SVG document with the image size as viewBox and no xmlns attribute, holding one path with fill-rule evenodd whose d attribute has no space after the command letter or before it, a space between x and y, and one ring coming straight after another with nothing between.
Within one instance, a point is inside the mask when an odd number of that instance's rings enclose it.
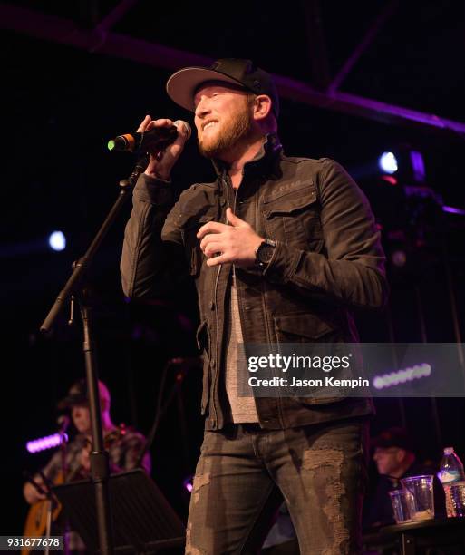
<instances>
[{"instance_id":1,"label":"singer's raised hand gripping the microphone","mask_svg":"<svg viewBox=\"0 0 465 555\"><path fill-rule=\"evenodd\" d=\"M152 120L150 115L146 115L140 123L138 132L149 131L154 127L170 127L173 124L171 120ZM178 127L178 138L170 144L164 151L150 152L150 162L145 170L146 175L150 177L169 180L170 171L178 160L180 153L184 149L184 143L188 140L188 132L184 125Z\"/></svg>"}]
</instances>

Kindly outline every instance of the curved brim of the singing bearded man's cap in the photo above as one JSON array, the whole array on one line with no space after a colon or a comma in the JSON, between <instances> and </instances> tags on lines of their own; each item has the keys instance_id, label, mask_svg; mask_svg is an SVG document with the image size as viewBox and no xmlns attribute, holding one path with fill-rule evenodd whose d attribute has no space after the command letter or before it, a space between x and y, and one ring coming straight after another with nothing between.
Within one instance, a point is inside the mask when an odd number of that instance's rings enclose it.
<instances>
[{"instance_id":1,"label":"curved brim of the singing bearded man's cap","mask_svg":"<svg viewBox=\"0 0 465 555\"><path fill-rule=\"evenodd\" d=\"M237 81L237 79L233 79L215 70L209 70L204 67L185 67L170 76L166 83L166 91L170 98L179 104L179 106L194 112L194 94L199 85L206 81L223 81L224 83L236 84L245 88L244 84Z\"/></svg>"}]
</instances>

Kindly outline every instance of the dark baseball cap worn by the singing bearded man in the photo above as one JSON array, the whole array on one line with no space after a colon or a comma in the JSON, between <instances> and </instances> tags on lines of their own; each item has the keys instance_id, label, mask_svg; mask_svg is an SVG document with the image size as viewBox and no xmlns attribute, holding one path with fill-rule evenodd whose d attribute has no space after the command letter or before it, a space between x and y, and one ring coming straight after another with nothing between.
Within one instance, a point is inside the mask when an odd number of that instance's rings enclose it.
<instances>
[{"instance_id":1,"label":"dark baseball cap worn by the singing bearded man","mask_svg":"<svg viewBox=\"0 0 465 555\"><path fill-rule=\"evenodd\" d=\"M276 118L279 115L279 96L273 77L251 60L222 58L209 67L185 67L170 76L166 90L179 106L194 112L194 95L199 86L208 81L234 84L254 94L266 94L271 98Z\"/></svg>"}]
</instances>

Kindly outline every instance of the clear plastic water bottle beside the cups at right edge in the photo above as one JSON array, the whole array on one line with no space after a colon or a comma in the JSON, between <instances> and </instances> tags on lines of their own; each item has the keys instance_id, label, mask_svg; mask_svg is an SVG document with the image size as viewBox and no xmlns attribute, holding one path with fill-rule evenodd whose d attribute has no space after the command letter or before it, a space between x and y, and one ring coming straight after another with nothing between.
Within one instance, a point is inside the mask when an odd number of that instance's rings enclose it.
<instances>
[{"instance_id":1,"label":"clear plastic water bottle beside the cups at right edge","mask_svg":"<svg viewBox=\"0 0 465 555\"><path fill-rule=\"evenodd\" d=\"M453 447L444 449L438 478L446 494L447 516L465 516L465 472Z\"/></svg>"}]
</instances>

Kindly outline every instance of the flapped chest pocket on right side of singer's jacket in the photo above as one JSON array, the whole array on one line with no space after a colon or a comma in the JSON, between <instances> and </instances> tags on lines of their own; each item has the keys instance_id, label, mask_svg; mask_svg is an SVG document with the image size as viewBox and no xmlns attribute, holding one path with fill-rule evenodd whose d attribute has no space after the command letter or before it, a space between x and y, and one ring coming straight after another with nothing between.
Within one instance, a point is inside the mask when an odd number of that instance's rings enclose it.
<instances>
[{"instance_id":1,"label":"flapped chest pocket on right side of singer's jacket","mask_svg":"<svg viewBox=\"0 0 465 555\"><path fill-rule=\"evenodd\" d=\"M297 190L266 197L262 212L268 236L290 247L320 251L323 234L317 200L316 187L311 182Z\"/></svg>"}]
</instances>

